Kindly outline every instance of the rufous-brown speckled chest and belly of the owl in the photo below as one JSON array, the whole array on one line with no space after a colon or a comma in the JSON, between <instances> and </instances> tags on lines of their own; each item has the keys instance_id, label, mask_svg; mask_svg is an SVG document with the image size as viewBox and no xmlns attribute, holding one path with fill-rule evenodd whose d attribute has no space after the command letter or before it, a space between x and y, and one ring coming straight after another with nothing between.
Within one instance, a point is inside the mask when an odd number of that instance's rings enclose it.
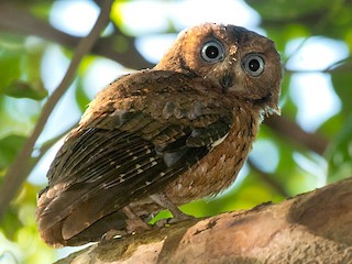
<instances>
[{"instance_id":1,"label":"rufous-brown speckled chest and belly of the owl","mask_svg":"<svg viewBox=\"0 0 352 264\"><path fill-rule=\"evenodd\" d=\"M258 120L248 113L237 116L226 139L172 182L164 193L174 204L183 205L229 187L246 160L257 127Z\"/></svg>"}]
</instances>

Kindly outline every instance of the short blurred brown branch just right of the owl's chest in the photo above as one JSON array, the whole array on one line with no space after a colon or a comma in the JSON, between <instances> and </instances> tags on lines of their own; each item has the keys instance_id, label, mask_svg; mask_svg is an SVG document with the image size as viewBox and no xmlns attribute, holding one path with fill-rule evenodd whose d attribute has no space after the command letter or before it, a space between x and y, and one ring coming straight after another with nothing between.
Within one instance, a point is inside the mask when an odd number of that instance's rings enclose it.
<instances>
[{"instance_id":1,"label":"short blurred brown branch just right of the owl's chest","mask_svg":"<svg viewBox=\"0 0 352 264\"><path fill-rule=\"evenodd\" d=\"M305 146L319 155L322 155L327 150L328 141L324 138L318 133L308 133L304 131L297 123L284 116L272 116L271 118L265 119L264 123L284 138L295 141L299 145Z\"/></svg>"}]
</instances>

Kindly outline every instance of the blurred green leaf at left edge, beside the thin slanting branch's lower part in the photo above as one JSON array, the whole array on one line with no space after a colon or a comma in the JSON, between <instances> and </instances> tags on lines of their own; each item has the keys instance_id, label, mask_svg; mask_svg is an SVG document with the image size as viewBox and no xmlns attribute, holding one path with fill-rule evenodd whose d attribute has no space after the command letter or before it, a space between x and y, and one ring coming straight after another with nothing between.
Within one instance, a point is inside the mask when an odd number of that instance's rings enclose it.
<instances>
[{"instance_id":1,"label":"blurred green leaf at left edge, beside the thin slanting branch's lower part","mask_svg":"<svg viewBox=\"0 0 352 264\"><path fill-rule=\"evenodd\" d=\"M0 140L0 169L4 169L14 161L25 140L25 136L16 134L10 134Z\"/></svg>"}]
</instances>

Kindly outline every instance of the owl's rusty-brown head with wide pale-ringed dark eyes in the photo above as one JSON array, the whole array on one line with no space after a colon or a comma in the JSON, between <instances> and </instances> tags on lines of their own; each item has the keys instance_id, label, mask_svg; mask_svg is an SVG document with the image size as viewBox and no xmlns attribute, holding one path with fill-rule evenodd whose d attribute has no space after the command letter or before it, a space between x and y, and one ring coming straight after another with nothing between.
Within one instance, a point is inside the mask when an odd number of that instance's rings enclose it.
<instances>
[{"instance_id":1,"label":"owl's rusty-brown head with wide pale-ringed dark eyes","mask_svg":"<svg viewBox=\"0 0 352 264\"><path fill-rule=\"evenodd\" d=\"M205 23L185 30L155 68L204 78L226 96L279 113L283 70L275 43L244 28Z\"/></svg>"}]
</instances>

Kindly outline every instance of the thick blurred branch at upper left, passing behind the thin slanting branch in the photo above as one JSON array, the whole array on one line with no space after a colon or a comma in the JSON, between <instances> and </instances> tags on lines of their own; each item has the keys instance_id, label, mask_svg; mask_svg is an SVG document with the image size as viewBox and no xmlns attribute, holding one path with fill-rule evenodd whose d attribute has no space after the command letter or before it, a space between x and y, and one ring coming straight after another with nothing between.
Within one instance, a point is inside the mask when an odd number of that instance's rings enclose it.
<instances>
[{"instance_id":1,"label":"thick blurred branch at upper left, passing behind the thin slanting branch","mask_svg":"<svg viewBox=\"0 0 352 264\"><path fill-rule=\"evenodd\" d=\"M0 31L35 35L70 48L76 48L81 41L81 37L72 36L56 30L46 21L35 18L30 11L20 7L16 1L0 2ZM124 42L123 46L125 50L118 52L119 46L117 46L117 43L121 43L121 40ZM91 52L96 55L113 59L129 68L139 69L153 67L154 65L147 62L139 51L136 51L134 41L134 37L125 36L120 31L114 31L112 35L98 40L91 48Z\"/></svg>"}]
</instances>

